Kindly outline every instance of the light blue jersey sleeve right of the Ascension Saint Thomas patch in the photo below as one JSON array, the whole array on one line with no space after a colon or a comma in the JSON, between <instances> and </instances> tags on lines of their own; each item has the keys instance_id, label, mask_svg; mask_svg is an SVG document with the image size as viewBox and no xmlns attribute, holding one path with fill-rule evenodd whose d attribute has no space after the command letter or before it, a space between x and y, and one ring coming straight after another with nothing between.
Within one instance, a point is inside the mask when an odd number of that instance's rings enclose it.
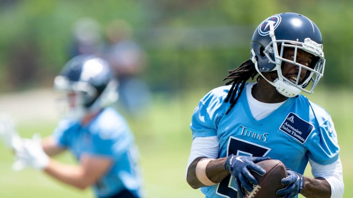
<instances>
[{"instance_id":1,"label":"light blue jersey sleeve right of the Ascension Saint Thomas patch","mask_svg":"<svg viewBox=\"0 0 353 198\"><path fill-rule=\"evenodd\" d=\"M316 115L319 115L319 128L311 135L308 157L321 165L331 164L339 157L337 133L330 115L325 110L317 111Z\"/></svg>"}]
</instances>

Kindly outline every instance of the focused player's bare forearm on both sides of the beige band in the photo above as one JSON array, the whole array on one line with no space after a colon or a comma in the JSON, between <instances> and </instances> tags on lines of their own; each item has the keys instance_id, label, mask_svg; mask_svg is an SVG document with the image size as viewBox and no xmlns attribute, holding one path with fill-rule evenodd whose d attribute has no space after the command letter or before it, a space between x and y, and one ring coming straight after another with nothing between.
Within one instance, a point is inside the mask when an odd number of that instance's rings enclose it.
<instances>
[{"instance_id":1,"label":"focused player's bare forearm on both sides of the beige band","mask_svg":"<svg viewBox=\"0 0 353 198\"><path fill-rule=\"evenodd\" d=\"M196 167L200 159L204 157L198 157L196 158L189 166L188 168L188 174L186 177L186 180L188 184L194 188L201 188L204 186L208 186L203 184L196 176ZM219 158L210 161L207 166L206 166L206 176L207 178L212 181L213 183L219 183L221 182L229 173L225 170L224 164L226 161L226 158Z\"/></svg>"}]
</instances>

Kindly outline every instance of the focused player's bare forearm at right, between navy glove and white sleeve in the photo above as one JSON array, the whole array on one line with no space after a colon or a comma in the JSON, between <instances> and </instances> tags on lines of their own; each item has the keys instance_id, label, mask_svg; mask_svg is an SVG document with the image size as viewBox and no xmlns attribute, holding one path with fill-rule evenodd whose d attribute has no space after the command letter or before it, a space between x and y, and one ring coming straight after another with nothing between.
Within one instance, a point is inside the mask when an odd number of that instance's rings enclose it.
<instances>
[{"instance_id":1,"label":"focused player's bare forearm at right, between navy glove and white sleeve","mask_svg":"<svg viewBox=\"0 0 353 198\"><path fill-rule=\"evenodd\" d=\"M331 188L328 182L322 178L304 176L304 188L302 195L306 198L330 198Z\"/></svg>"}]
</instances>

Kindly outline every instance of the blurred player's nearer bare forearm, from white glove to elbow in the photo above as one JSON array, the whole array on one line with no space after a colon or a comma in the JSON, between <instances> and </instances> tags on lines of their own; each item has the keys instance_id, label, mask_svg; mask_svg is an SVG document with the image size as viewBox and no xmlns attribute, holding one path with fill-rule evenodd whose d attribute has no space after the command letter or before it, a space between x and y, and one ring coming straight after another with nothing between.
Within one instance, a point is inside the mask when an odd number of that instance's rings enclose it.
<instances>
[{"instance_id":1,"label":"blurred player's nearer bare forearm, from white glove to elbow","mask_svg":"<svg viewBox=\"0 0 353 198\"><path fill-rule=\"evenodd\" d=\"M85 177L84 171L79 166L61 164L53 159L50 159L44 171L55 179L79 189L85 189L94 183Z\"/></svg>"}]
</instances>

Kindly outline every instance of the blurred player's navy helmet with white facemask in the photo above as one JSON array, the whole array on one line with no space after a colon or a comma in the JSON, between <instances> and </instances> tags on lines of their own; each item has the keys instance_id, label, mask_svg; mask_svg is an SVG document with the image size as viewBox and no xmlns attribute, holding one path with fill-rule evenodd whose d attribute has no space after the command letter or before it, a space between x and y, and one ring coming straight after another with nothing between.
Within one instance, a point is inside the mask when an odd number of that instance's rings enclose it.
<instances>
[{"instance_id":1,"label":"blurred player's navy helmet with white facemask","mask_svg":"<svg viewBox=\"0 0 353 198\"><path fill-rule=\"evenodd\" d=\"M112 77L110 66L93 55L79 55L71 59L55 77L54 88L65 91L67 115L76 119L118 99L118 83Z\"/></svg>"}]
</instances>

